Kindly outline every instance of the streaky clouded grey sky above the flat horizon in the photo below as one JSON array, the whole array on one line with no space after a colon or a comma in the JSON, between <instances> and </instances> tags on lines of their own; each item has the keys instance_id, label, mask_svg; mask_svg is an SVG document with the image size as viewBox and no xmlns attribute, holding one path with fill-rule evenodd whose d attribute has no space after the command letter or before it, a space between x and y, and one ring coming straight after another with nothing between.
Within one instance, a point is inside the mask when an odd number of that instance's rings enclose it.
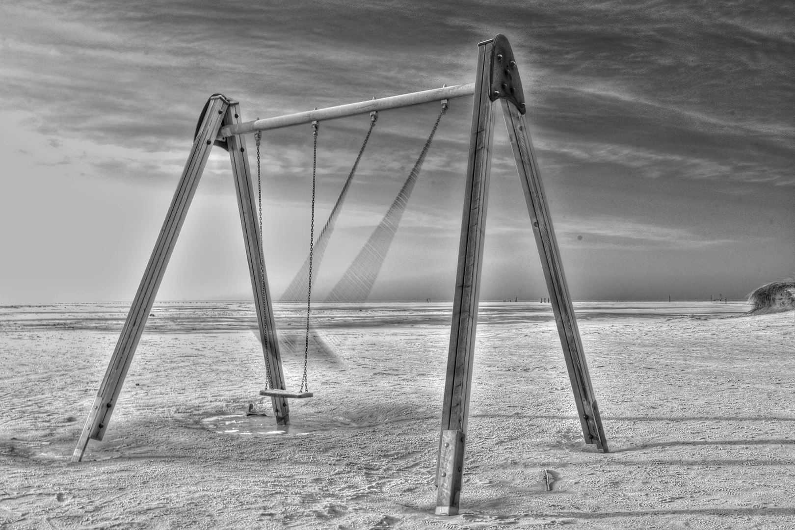
<instances>
[{"instance_id":1,"label":"streaky clouded grey sky above the flat horizon","mask_svg":"<svg viewBox=\"0 0 795 530\"><path fill-rule=\"evenodd\" d=\"M497 33L517 58L573 298L742 300L795 276L793 27L785 1L3 2L0 304L132 300L211 94L249 121L471 83L478 42ZM453 100L442 118L371 300L452 300L471 106ZM481 300L537 300L545 281L497 110ZM438 112L379 115L319 300ZM320 124L317 219L368 121ZM264 133L261 163L279 296L308 252L310 127ZM215 148L157 300L251 298L234 193Z\"/></svg>"}]
</instances>

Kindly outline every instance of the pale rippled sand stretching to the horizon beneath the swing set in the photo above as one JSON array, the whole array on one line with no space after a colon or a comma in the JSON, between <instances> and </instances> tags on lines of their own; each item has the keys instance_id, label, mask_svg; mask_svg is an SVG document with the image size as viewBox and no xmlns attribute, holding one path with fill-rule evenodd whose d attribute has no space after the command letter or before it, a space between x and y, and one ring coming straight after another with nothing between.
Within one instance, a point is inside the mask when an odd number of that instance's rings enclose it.
<instances>
[{"instance_id":1,"label":"pale rippled sand stretching to the horizon beneath the swing set","mask_svg":"<svg viewBox=\"0 0 795 530\"><path fill-rule=\"evenodd\" d=\"M2 307L0 527L795 528L795 313L576 308L611 453L583 442L549 304L482 304L461 513L443 517L449 304L320 307L316 397L283 430L258 396L253 307L157 304L77 464L127 307ZM300 306L277 322L297 385Z\"/></svg>"}]
</instances>

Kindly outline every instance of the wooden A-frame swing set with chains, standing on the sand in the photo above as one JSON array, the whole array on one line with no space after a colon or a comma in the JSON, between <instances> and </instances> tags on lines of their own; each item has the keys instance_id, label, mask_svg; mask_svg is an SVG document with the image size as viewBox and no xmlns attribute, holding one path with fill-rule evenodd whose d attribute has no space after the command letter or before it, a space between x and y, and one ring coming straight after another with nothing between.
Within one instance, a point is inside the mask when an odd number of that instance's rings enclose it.
<instances>
[{"instance_id":1,"label":"wooden A-frame swing set with chains, standing on the sand","mask_svg":"<svg viewBox=\"0 0 795 530\"><path fill-rule=\"evenodd\" d=\"M503 35L497 35L494 39L479 43L478 50L475 83L466 85L442 87L382 99L371 99L370 101L332 106L320 110L315 109L276 118L257 119L253 122L241 121L239 103L236 101L227 99L220 94L212 95L207 100L196 126L188 162L185 164L152 256L149 258L138 292L136 292L133 304L122 327L111 362L107 367L95 402L88 414L86 426L80 434L80 440L72 456L73 462L79 462L83 458L83 452L86 450L90 439L102 440L107 430L107 425L117 405L118 395L121 392L126 373L130 368L130 362L132 362L138 341L141 339L147 316L153 306L157 288L160 286L166 265L168 265L169 257L176 243L176 238L180 233L180 228L184 222L185 215L187 215L188 207L196 192L196 187L204 166L207 164L207 158L213 145L218 145L228 151L232 174L235 179L235 192L238 199L251 286L254 291L254 305L257 312L262 352L266 364L266 389L262 390L261 394L271 398L277 425L289 425L288 399L308 398L313 395L312 392L309 392L307 382L312 270L313 267L316 268L322 258L325 242L328 241L328 236L333 230L336 215L339 214L339 208L347 194L347 189L366 148L370 133L373 132L378 119L378 111L435 101L442 103L442 110L439 117L436 118L436 123L428 141L425 142L425 147L422 149L420 157L417 159L417 164L414 165L412 172L409 174L409 179L406 180L406 184L393 204L393 207L396 207L396 205L398 207L400 205L405 206L405 201L408 199L411 188L413 188L413 182L417 180L422 161L428 152L433 135L436 133L436 128L439 126L444 111L448 108L449 100L473 95L474 102L463 219L452 309L448 364L444 384L439 451L436 464L436 514L455 515L459 509L491 169L491 144L495 115L493 103L497 100L500 100L502 106L502 114L508 129L510 145L514 152L519 180L522 182L527 211L533 224L533 234L539 256L541 257L546 284L549 288L549 301L555 315L558 335L563 347L564 360L572 383L584 441L585 443L595 444L599 450L607 452L607 440L605 439L602 420L599 415L599 407L591 385L591 377L588 374L588 366L580 340L580 331L577 328L572 299L564 277L560 250L558 250L552 219L549 216L549 207L541 185L533 144L529 136L525 118L526 107L522 81L519 78L514 54L507 38ZM356 158L351 173L343 185L339 199L337 199L337 203L335 203L335 207L332 209L331 215L329 215L328 222L326 222L320 232L316 246L314 228L319 124L324 120L366 113L370 113L370 129L367 131L362 148L359 149L359 156ZM312 124L314 144L309 254L307 262L302 267L304 273L300 271L296 279L293 280L293 284L303 285L305 275L307 318L304 334L304 373L301 379L301 387L297 391L290 391L285 389L281 354L273 322L272 298L262 250L260 143L262 131L308 123ZM255 133L257 146L257 202L254 201L254 190L251 182L248 154L246 153L245 134L247 133ZM393 208L390 208L391 211L393 211ZM255 215L258 215L258 219ZM388 213L387 215L390 214ZM399 221L399 214L397 214L397 220ZM387 224L394 225L395 223L390 222ZM379 226L380 228L381 226ZM376 232L378 232L378 229ZM372 239L370 238L370 241ZM366 254L366 250L367 248L363 249L359 257ZM318 259L314 261L316 253L318 254ZM358 260L359 258L354 261L348 271L351 273L351 278L363 284L374 281L374 275L372 275L371 279L366 278L363 277L360 270L356 270L355 265ZM375 271L375 274L377 273L378 270ZM370 283L371 286L372 284ZM369 292L369 288L366 288L366 292Z\"/></svg>"}]
</instances>

